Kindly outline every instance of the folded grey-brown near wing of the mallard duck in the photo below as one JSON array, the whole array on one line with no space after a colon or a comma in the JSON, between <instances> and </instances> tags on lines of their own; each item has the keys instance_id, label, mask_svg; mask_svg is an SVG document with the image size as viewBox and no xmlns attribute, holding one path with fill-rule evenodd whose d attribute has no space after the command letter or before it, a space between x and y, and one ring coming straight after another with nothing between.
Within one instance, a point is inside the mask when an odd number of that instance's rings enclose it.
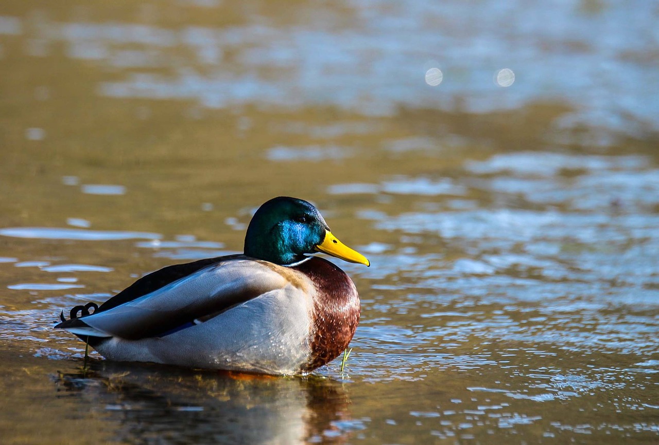
<instances>
[{"instance_id":1,"label":"folded grey-brown near wing of the mallard duck","mask_svg":"<svg viewBox=\"0 0 659 445\"><path fill-rule=\"evenodd\" d=\"M55 328L91 337L158 337L289 283L276 268L241 256L198 269L151 293L64 321Z\"/></svg>"}]
</instances>

